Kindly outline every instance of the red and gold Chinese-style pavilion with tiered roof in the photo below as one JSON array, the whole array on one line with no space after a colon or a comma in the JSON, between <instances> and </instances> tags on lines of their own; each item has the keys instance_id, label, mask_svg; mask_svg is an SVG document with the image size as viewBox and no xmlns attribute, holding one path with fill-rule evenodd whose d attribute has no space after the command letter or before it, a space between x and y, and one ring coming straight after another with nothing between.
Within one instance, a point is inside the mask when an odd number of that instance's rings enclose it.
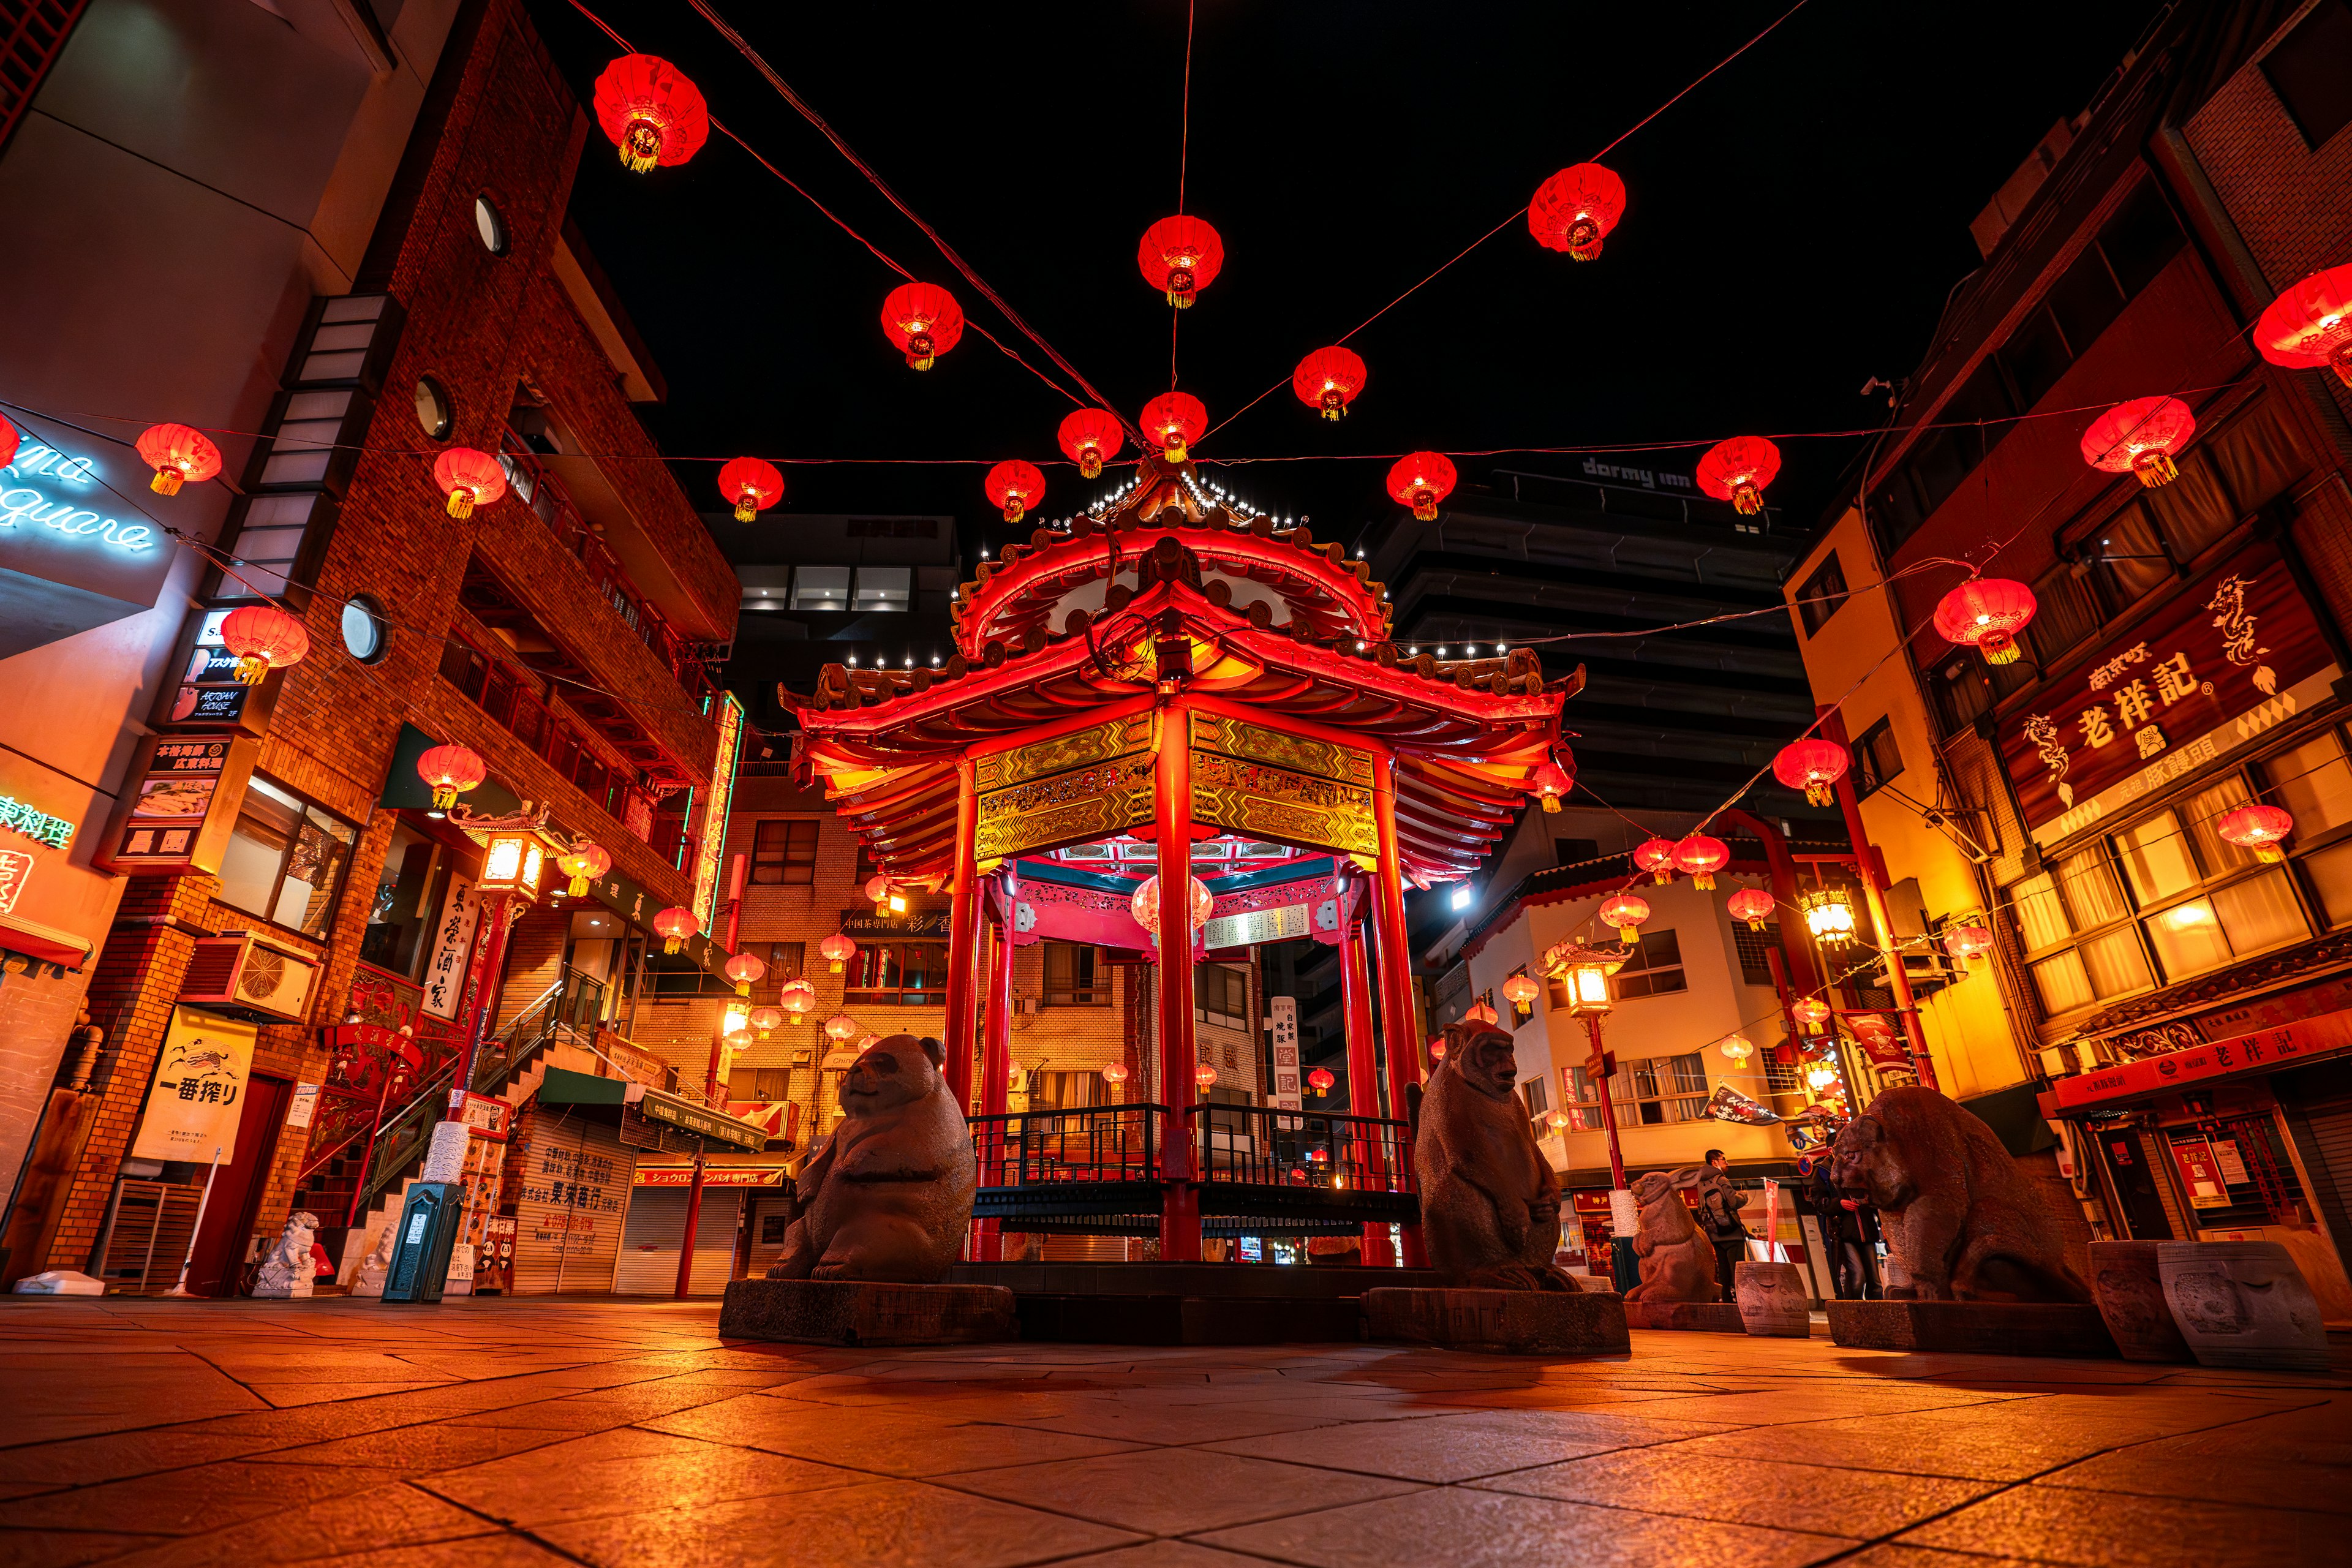
<instances>
[{"instance_id":1,"label":"red and gold Chinese-style pavilion with tiered roof","mask_svg":"<svg viewBox=\"0 0 2352 1568\"><path fill-rule=\"evenodd\" d=\"M1468 877L1536 771L1566 766L1559 708L1583 670L1545 682L1524 649L1406 658L1388 628L1388 592L1341 545L1211 491L1192 463L1145 454L1068 527L981 564L955 595L957 651L943 668L826 665L811 696L783 693L802 776L826 780L896 884L950 893L948 1079L964 1105L985 983L978 1110L1004 1112L1014 938L1148 950L1127 893L1145 872L1190 889L1207 858L1256 867L1218 879L1232 891L1209 910L1207 945L1317 936L1341 947L1359 1117L1381 1114L1369 983L1352 952L1369 917L1388 1098L1402 1114L1421 1063L1404 884ZM983 924L997 929L985 978ZM1195 1070L1192 952L1160 964L1157 1041L1129 1041L1141 1060L1157 1044L1171 1100ZM1200 1255L1188 1159L1188 1140L1169 1138L1167 1260Z\"/></svg>"}]
</instances>

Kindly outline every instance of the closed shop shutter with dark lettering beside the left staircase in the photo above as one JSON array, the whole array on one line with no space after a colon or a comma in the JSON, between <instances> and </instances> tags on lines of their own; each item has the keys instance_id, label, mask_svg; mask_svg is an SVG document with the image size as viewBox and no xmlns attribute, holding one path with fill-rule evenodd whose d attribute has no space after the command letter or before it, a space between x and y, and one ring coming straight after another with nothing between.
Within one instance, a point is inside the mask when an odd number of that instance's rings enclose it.
<instances>
[{"instance_id":1,"label":"closed shop shutter with dark lettering beside the left staircase","mask_svg":"<svg viewBox=\"0 0 2352 1568\"><path fill-rule=\"evenodd\" d=\"M532 1117L529 1128L517 1133L508 1171L515 1295L612 1291L635 1173L637 1152L621 1147L614 1128L576 1112Z\"/></svg>"}]
</instances>

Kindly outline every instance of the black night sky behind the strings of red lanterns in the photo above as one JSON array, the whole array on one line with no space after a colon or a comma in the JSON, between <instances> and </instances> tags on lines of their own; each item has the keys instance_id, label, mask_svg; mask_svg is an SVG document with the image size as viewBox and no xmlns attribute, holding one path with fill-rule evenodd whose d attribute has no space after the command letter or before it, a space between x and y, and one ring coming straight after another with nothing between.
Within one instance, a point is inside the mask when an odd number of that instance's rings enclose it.
<instances>
[{"instance_id":1,"label":"black night sky behind the strings of red lanterns","mask_svg":"<svg viewBox=\"0 0 2352 1568\"><path fill-rule=\"evenodd\" d=\"M1016 341L684 0L590 0L677 61L809 195L967 315ZM1609 158L1628 212L1595 263L1524 221L1352 339L1371 367L1352 416L1301 407L1291 367L1522 207L1785 9L1651 5L1202 0L1185 207L1225 237L1223 275L1181 320L1178 383L1240 456L1475 451L1851 430L1858 388L1903 376L1978 256L1966 223L2117 68L2150 0L1879 5L1809 0ZM1164 299L1136 237L1176 212L1183 0L1018 7L727 2L769 63L1124 414L1169 386ZM534 16L586 101L619 49L567 0ZM898 282L802 195L713 134L682 169L590 148L574 216L661 364L647 409L675 458L1058 458L1073 407L983 339L910 371L877 310ZM1030 346L1030 362L1042 364ZM1858 440L1783 440L1773 494L1804 527ZM1573 473L1578 458L1465 458ZM1658 454L1689 468L1696 451ZM1388 515L1385 461L1242 470L1232 487L1308 512L1324 538ZM978 465L788 470L788 510L955 512L1000 541ZM680 477L715 505L715 470ZM1047 515L1096 494L1047 468ZM1025 534L1025 529L1023 529Z\"/></svg>"}]
</instances>

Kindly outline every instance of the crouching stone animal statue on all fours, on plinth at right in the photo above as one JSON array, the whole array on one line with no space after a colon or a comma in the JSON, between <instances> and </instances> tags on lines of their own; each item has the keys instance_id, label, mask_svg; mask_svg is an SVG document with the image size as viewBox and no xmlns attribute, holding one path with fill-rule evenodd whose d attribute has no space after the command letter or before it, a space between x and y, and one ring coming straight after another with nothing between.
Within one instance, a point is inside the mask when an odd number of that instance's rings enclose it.
<instances>
[{"instance_id":1,"label":"crouching stone animal statue on all fours, on plinth at right","mask_svg":"<svg viewBox=\"0 0 2352 1568\"><path fill-rule=\"evenodd\" d=\"M1889 1088L1832 1145L1830 1180L1877 1206L1919 1300L2086 1302L2056 1215L1973 1112Z\"/></svg>"}]
</instances>

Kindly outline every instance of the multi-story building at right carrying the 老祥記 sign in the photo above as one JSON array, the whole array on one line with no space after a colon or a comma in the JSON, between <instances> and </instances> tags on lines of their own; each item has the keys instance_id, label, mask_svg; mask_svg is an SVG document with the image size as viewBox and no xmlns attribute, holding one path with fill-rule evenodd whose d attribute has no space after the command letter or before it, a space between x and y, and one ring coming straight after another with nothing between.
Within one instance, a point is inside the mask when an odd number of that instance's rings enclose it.
<instances>
[{"instance_id":1,"label":"multi-story building at right carrying the \u8001\u7965\u8a18 sign","mask_svg":"<svg viewBox=\"0 0 2352 1568\"><path fill-rule=\"evenodd\" d=\"M2352 261L2347 73L2343 0L2166 7L1976 221L1983 266L1788 581L1867 837L1931 926L1997 938L1922 1004L1943 1084L2105 1234L2284 1241L2331 1319L2352 390L2253 329ZM2194 414L2169 482L2086 461L2136 397ZM1933 630L1971 571L2032 590L2013 663ZM2230 827L2256 802L2284 853Z\"/></svg>"}]
</instances>

